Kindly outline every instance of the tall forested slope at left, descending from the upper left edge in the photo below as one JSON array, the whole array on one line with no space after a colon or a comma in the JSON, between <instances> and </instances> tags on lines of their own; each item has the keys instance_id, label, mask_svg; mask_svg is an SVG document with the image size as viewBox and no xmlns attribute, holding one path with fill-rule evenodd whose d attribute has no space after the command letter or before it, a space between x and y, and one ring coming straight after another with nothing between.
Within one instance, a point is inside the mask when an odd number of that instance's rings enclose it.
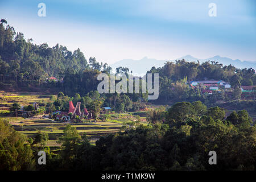
<instances>
[{"instance_id":1,"label":"tall forested slope at left, descending from the upper left edge","mask_svg":"<svg viewBox=\"0 0 256 182\"><path fill-rule=\"evenodd\" d=\"M47 76L60 77L67 68L76 72L88 68L84 54L78 48L71 52L57 44L36 45L32 39L25 40L22 33L2 19L0 23L0 73L1 80L42 81Z\"/></svg>"}]
</instances>

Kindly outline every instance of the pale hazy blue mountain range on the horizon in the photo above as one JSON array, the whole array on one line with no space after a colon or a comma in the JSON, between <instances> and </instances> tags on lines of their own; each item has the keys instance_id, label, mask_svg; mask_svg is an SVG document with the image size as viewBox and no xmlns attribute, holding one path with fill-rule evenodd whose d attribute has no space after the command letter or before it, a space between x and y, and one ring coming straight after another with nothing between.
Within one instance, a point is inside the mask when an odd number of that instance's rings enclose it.
<instances>
[{"instance_id":1,"label":"pale hazy blue mountain range on the horizon","mask_svg":"<svg viewBox=\"0 0 256 182\"><path fill-rule=\"evenodd\" d=\"M241 61L239 59L232 60L228 57L221 57L221 56L214 56L208 59L198 59L191 55L183 56L175 60L182 60L182 59L186 61L199 60L200 63L203 63L205 61L218 61L218 63L221 63L223 65L232 64L236 68L253 68L256 70L256 61ZM175 60L168 60L168 61L175 61ZM156 67L156 68L163 67L166 61L167 60L149 59L147 57L143 57L141 60L123 59L111 64L110 67L113 68L113 71L115 71L115 68L118 68L118 67L126 67L126 68L129 68L130 71L133 71L134 75L143 75L147 71L149 71L152 67Z\"/></svg>"}]
</instances>

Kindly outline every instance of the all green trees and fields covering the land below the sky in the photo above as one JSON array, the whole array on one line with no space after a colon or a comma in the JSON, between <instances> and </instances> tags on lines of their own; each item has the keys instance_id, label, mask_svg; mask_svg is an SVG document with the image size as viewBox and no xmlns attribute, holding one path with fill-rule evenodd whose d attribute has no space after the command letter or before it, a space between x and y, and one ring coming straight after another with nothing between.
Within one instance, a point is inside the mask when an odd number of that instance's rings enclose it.
<instances>
[{"instance_id":1,"label":"all green trees and fields covering the land below the sky","mask_svg":"<svg viewBox=\"0 0 256 182\"><path fill-rule=\"evenodd\" d=\"M256 85L254 69L167 61L148 71L159 73L158 100L147 101L142 93L100 94L99 73L128 76L129 69L113 74L94 57L87 62L80 49L33 44L6 24L1 20L0 86L26 94L0 92L0 169L255 170L256 88L241 90ZM188 84L205 78L230 82L231 88L208 94L204 85ZM69 101L81 102L97 122L78 115L71 122L53 121L53 111L67 112ZM105 113L103 107L112 110ZM15 117L20 109L30 118ZM45 113L50 117L43 118ZM46 166L35 163L39 150L47 154ZM208 163L212 150L217 166Z\"/></svg>"}]
</instances>

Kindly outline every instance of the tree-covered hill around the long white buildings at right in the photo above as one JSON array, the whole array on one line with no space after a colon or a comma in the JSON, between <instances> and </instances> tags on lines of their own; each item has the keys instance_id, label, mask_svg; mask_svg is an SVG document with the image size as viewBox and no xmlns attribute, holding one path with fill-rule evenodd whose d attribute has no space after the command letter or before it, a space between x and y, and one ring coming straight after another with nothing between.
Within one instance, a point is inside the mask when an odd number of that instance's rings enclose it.
<instances>
[{"instance_id":1,"label":"tree-covered hill around the long white buildings at right","mask_svg":"<svg viewBox=\"0 0 256 182\"><path fill-rule=\"evenodd\" d=\"M191 89L188 81L192 80L224 80L229 82L232 89L256 85L256 74L253 68L238 69L232 65L224 66L215 61L188 62L178 60L176 63L167 62L162 68L152 67L148 73L159 73L158 101L197 101L213 103L212 99L222 100L221 96L212 94L204 98L199 88ZM223 92L224 93L224 92ZM214 98L215 97L215 98Z\"/></svg>"}]
</instances>

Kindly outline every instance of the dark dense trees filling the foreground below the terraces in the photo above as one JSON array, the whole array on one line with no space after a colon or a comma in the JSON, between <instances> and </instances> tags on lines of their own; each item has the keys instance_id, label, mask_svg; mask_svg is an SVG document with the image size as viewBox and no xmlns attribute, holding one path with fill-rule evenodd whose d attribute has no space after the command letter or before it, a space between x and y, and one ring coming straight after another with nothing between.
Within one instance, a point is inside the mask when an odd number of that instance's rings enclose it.
<instances>
[{"instance_id":1,"label":"dark dense trees filling the foreground below the terraces","mask_svg":"<svg viewBox=\"0 0 256 182\"><path fill-rule=\"evenodd\" d=\"M256 130L246 110L225 110L200 101L178 102L147 115L147 126L136 123L124 132L101 137L92 146L86 135L67 125L59 138L61 150L44 147L46 133L35 139L0 122L0 169L9 170L255 170ZM35 164L34 144L47 154L47 165ZM209 165L209 151L217 165Z\"/></svg>"}]
</instances>

